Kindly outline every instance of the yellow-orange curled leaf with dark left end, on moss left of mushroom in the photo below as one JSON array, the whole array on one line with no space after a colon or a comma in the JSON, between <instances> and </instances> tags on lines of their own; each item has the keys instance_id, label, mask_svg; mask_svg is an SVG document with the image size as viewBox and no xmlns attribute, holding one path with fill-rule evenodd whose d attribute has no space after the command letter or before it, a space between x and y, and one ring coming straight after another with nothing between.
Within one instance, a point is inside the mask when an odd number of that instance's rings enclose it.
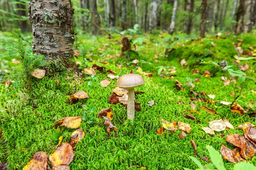
<instances>
[{"instance_id":1,"label":"yellow-orange curled leaf with dark left end, on moss left of mushroom","mask_svg":"<svg viewBox=\"0 0 256 170\"><path fill-rule=\"evenodd\" d=\"M56 129L58 126L65 126L71 129L78 128L81 125L82 119L81 116L74 117L64 117L63 119L56 122L54 128Z\"/></svg>"}]
</instances>

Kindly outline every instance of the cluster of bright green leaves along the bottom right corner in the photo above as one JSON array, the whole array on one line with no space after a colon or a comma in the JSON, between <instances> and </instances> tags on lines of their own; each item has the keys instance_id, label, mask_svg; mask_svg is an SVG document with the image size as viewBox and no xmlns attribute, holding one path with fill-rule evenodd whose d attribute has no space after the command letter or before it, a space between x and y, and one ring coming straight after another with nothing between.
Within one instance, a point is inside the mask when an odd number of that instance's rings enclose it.
<instances>
[{"instance_id":1,"label":"cluster of bright green leaves along the bottom right corner","mask_svg":"<svg viewBox=\"0 0 256 170\"><path fill-rule=\"evenodd\" d=\"M217 170L226 170L226 168L224 166L223 159L221 157L221 154L218 153L218 151L215 150L212 146L207 145L206 148L209 151L209 155L210 155L212 164L206 164L203 166L200 163L200 161L198 161L198 159L196 159L193 156L189 156L190 159L192 159L192 161L194 161L195 164L198 166L198 169L196 169L196 170L215 170L215 167L217 168ZM239 162L233 168L233 170L255 170L255 169L256 169L256 167L253 166L253 164L250 164L245 161ZM190 170L190 169L184 168L184 170Z\"/></svg>"}]
</instances>

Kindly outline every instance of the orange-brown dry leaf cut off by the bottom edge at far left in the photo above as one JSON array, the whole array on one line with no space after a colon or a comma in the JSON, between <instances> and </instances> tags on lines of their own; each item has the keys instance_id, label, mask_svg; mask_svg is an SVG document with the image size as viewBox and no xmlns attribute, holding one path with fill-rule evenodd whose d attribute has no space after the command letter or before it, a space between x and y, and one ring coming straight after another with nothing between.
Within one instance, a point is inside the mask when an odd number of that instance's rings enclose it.
<instances>
[{"instance_id":1,"label":"orange-brown dry leaf cut off by the bottom edge at far left","mask_svg":"<svg viewBox=\"0 0 256 170\"><path fill-rule=\"evenodd\" d=\"M48 155L44 152L37 152L34 154L33 158L23 167L23 170L47 170ZM0 168L2 170L2 168Z\"/></svg>"}]
</instances>

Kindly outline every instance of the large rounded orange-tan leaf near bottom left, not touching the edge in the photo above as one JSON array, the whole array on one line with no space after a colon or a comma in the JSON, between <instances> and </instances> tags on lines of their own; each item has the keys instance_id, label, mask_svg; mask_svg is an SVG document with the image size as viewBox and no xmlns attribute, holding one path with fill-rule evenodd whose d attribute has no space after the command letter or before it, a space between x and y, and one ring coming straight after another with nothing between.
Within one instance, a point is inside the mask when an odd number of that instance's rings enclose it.
<instances>
[{"instance_id":1,"label":"large rounded orange-tan leaf near bottom left, not touching the edge","mask_svg":"<svg viewBox=\"0 0 256 170\"><path fill-rule=\"evenodd\" d=\"M63 143L49 156L49 161L55 167L58 165L69 165L73 161L74 156L72 146L68 143Z\"/></svg>"}]
</instances>

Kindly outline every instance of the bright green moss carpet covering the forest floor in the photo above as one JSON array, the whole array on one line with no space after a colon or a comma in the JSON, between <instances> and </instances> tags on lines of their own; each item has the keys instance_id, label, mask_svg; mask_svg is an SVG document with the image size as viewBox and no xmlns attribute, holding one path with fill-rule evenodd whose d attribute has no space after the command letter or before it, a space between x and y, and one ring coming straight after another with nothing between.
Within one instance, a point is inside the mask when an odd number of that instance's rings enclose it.
<instances>
[{"instance_id":1,"label":"bright green moss carpet covering the forest floor","mask_svg":"<svg viewBox=\"0 0 256 170\"><path fill-rule=\"evenodd\" d=\"M1 37L3 34L1 33ZM120 68L116 65L122 63L122 75L130 73L133 69L134 73L143 76L145 84L135 89L145 92L136 95L141 111L135 112L134 122L131 122L127 120L127 110L122 104L111 105L108 102L109 96L113 94L111 90L116 87L116 79L109 79L112 83L106 88L95 86L88 89L87 75L83 74L80 78L77 72L74 75L72 71L55 77L33 78L32 94L27 93L28 90L22 87L14 89L11 85L5 88L4 84L0 84L0 130L2 130L0 163L8 164L10 170L22 169L38 151L44 151L48 155L54 152L59 136L63 136L63 142L70 142L74 129L54 129L55 121L66 116L82 116L84 109L81 105L96 109L88 115L94 116L91 124L87 124L86 121L81 123L80 128L84 130L85 137L73 148L75 157L70 163L71 170L126 170L134 165L147 167L149 170L183 170L183 167L195 169L197 166L189 159L189 156L195 156L191 139L197 145L197 153L209 157L207 145L212 145L218 151L221 144L234 149L232 144L225 141L225 137L233 133L243 134L239 128L235 128L215 132L215 136L211 136L201 127L208 127L209 122L221 118L228 119L234 127L245 122L255 125L255 117L248 116L252 111L240 116L231 112L228 106L218 104L221 101L233 101L233 88L231 84L224 85L221 68L199 64L199 59L215 62L227 60L228 65L233 65L234 70L239 70L237 66L242 65L243 67L239 67L244 68L249 74L253 64L255 65L254 60L238 63L233 56L241 54L235 46L239 46L238 49L241 47L240 50L243 51L253 51L256 47L255 33L239 36L222 34L220 37L212 35L204 39L191 39L183 35L170 36L165 33L130 36L133 40L139 38L138 43L140 41L143 43L136 45L136 52L129 52L123 56L120 55L122 37L118 34L113 34L112 39L108 39L107 36L94 37L82 34L76 37L74 47L80 54L76 57L76 61L81 62L77 69L83 71L84 68L91 68L96 64L115 71L117 75ZM1 48L1 51L5 51L4 45ZM166 48L170 51L168 55L165 54ZM132 49L134 50L134 46ZM134 59L139 63L132 63ZM180 64L182 59L186 60L183 66ZM0 62L2 70L5 68L4 70L9 74L21 69L20 64L13 63L11 59L1 58ZM249 68L246 68L246 63ZM172 73L167 76L158 75L159 66L164 66ZM152 73L153 76L144 76L142 71ZM205 71L209 71L211 76L204 76ZM105 71L96 71L96 73L95 76L98 77L96 82L107 79L109 74ZM251 77L256 78L255 72ZM194 81L195 79L199 79L200 82ZM177 88L175 80L181 82L183 90ZM193 83L195 87L191 87L189 83ZM241 87L239 81L234 80L234 85L236 91L239 91ZM77 91L85 91L89 98L69 105L70 95ZM215 101L216 107L211 103L192 101L195 96L191 95L190 91L195 91L199 95L200 92L215 95L215 99L212 100ZM248 80L238 100L244 109L256 99L255 91L255 82ZM201 97L210 99L209 96L204 95L197 98ZM151 100L154 100L152 107L148 106ZM192 106L189 105L191 103L196 105L193 113L189 113L193 111ZM109 138L104 120L97 116L99 111L110 106L113 110L112 122L118 130L117 138L112 131ZM217 113L212 115L201 109L202 106L212 108ZM183 117L184 114L192 114L201 122L186 119ZM161 119L169 122L184 122L189 124L192 130L181 140L178 134L182 131L178 128L175 133L166 130L163 135L157 135L157 130L162 126ZM222 133L224 137L221 137ZM207 163L200 157L198 160L202 164ZM256 157L252 157L249 162L256 165ZM234 166L234 163L226 160L224 163L228 170Z\"/></svg>"}]
</instances>

